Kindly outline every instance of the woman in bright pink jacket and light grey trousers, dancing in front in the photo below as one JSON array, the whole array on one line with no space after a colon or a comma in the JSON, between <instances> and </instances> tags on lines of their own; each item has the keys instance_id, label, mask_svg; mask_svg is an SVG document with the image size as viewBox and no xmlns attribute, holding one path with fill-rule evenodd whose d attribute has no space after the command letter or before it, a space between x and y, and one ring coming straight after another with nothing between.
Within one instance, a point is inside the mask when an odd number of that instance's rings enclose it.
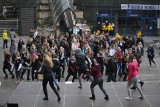
<instances>
[{"instance_id":1,"label":"woman in bright pink jacket and light grey trousers, dancing in front","mask_svg":"<svg viewBox=\"0 0 160 107\"><path fill-rule=\"evenodd\" d=\"M131 85L134 85L138 89L140 93L140 96L138 97L140 99L143 99L144 95L142 93L141 88L138 86L138 63L135 60L135 56L132 54L129 56L128 84L127 84L128 97L125 98L126 100L132 100L131 90L130 90Z\"/></svg>"}]
</instances>

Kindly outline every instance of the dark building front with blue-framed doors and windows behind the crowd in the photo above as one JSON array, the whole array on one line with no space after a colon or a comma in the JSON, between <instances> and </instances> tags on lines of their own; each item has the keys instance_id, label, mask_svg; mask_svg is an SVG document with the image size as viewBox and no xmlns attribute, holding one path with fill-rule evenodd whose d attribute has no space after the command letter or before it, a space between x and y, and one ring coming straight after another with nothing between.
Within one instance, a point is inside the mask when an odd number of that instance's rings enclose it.
<instances>
[{"instance_id":1,"label":"dark building front with blue-framed doors and windows behind the crowd","mask_svg":"<svg viewBox=\"0 0 160 107\"><path fill-rule=\"evenodd\" d=\"M120 34L158 35L160 0L74 0L74 5L93 26L109 21Z\"/></svg>"}]
</instances>

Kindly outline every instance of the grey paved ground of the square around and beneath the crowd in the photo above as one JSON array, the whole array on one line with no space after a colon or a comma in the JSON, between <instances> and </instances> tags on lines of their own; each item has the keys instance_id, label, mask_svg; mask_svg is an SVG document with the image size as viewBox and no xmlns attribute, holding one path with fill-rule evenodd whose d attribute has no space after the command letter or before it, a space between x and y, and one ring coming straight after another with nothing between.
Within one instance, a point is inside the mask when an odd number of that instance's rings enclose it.
<instances>
[{"instance_id":1,"label":"grey paved ground of the square around and beneath the crowd","mask_svg":"<svg viewBox=\"0 0 160 107\"><path fill-rule=\"evenodd\" d=\"M16 38L16 42L18 42L19 38L20 37ZM27 41L28 37L24 36L21 38ZM160 40L160 37L144 37L146 43L153 42L153 40ZM160 107L160 56L157 48L155 48L156 56L154 58L157 66L149 66L145 52L139 68L140 79L145 82L142 88L145 95L144 100L138 99L138 91L133 90L132 101L126 101L124 98L127 96L127 82L123 83L118 81L117 83L104 82L104 87L110 97L109 101L103 99L104 95L98 87L95 88L96 100L91 101L89 100L91 96L89 90L90 82L83 82L83 88L80 90L78 89L77 80L75 83L67 84L63 79L62 82L59 83L62 101L58 103L50 87L48 87L49 101L42 100L44 94L41 82L25 80L25 82L17 85L15 84L16 79L4 79L2 71L4 50L2 45L3 41L2 38L0 38L0 107L4 107L7 102L18 102L19 107ZM104 80L106 80L105 76Z\"/></svg>"}]
</instances>

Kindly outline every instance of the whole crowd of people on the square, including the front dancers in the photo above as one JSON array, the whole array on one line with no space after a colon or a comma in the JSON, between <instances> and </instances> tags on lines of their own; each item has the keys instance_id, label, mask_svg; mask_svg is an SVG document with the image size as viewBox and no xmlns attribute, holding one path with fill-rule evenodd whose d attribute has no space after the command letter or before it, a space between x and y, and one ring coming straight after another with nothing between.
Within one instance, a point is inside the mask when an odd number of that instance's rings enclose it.
<instances>
[{"instance_id":1,"label":"whole crowd of people on the square, including the front dancers","mask_svg":"<svg viewBox=\"0 0 160 107\"><path fill-rule=\"evenodd\" d=\"M94 32L92 35L80 36L69 32L65 35L53 36L39 35L36 30L30 35L25 43L21 38L16 47L14 31L11 30L11 44L9 51L4 52L3 72L5 79L8 79L8 70L11 79L16 76L17 82L24 80L23 76L27 71L27 80L38 80L38 75L43 74L44 100L48 100L46 85L49 81L51 88L56 93L58 101L61 100L57 90L60 90L58 82L61 78L68 81L73 76L79 81L79 88L82 89L82 79L92 83L90 85L92 97L95 100L94 87L99 85L104 93L104 99L109 97L103 88L103 75L107 75L107 82L127 81L128 95L126 100L131 100L131 89L138 89L140 98L143 99L141 87L144 82L138 78L138 67L142 62L144 54L143 37L120 36L118 33L110 36L109 33ZM3 48L8 48L8 35L3 33ZM6 45L6 46L5 46ZM150 44L148 50L149 63L154 62L154 49ZM65 72L68 72L65 75ZM31 75L30 75L31 74ZM127 78L128 77L128 78ZM54 84L57 89L55 88ZM133 85L133 87L131 87Z\"/></svg>"}]
</instances>

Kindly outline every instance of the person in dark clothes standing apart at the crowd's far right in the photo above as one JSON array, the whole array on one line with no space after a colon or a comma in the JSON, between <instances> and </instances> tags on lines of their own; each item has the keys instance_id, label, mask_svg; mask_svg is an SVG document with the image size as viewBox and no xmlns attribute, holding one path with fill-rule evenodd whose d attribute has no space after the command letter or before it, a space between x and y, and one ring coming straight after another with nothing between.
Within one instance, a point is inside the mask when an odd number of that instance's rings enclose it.
<instances>
[{"instance_id":1,"label":"person in dark clothes standing apart at the crowd's far right","mask_svg":"<svg viewBox=\"0 0 160 107\"><path fill-rule=\"evenodd\" d=\"M153 62L156 65L155 61L153 60L153 58L154 58L155 55L154 55L154 48L153 48L152 44L149 45L149 47L147 49L147 53L148 53L147 57L149 59L150 66L152 65L151 62Z\"/></svg>"}]
</instances>

